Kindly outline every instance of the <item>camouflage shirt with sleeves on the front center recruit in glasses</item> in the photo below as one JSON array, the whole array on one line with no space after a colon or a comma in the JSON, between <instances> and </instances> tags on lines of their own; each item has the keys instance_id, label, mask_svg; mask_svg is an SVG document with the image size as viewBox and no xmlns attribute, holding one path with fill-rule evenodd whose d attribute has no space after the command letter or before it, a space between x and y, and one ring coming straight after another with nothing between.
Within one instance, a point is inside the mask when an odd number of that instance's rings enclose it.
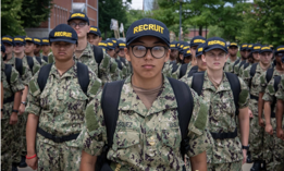
<instances>
[{"instance_id":1,"label":"camouflage shirt with sleeves on the front center recruit in glasses","mask_svg":"<svg viewBox=\"0 0 284 171\"><path fill-rule=\"evenodd\" d=\"M194 111L188 125L189 157L201 154L208 146L205 133L208 108L192 90ZM100 155L107 142L107 131L101 109L101 93L86 108L86 127L79 138L84 150ZM112 163L121 170L176 170L184 166L180 152L182 141L177 119L177 102L170 82L164 76L161 91L147 110L132 88L131 76L125 80L119 103L119 119L113 145L108 152Z\"/></svg>"}]
</instances>

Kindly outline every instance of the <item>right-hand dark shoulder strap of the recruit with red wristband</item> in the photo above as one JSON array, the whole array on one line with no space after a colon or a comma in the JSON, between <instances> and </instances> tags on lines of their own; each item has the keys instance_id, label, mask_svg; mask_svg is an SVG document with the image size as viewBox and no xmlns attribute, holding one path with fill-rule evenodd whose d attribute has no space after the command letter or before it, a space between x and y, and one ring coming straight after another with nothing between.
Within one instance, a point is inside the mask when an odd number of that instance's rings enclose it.
<instances>
[{"instance_id":1,"label":"right-hand dark shoulder strap of the recruit with red wristband","mask_svg":"<svg viewBox=\"0 0 284 171\"><path fill-rule=\"evenodd\" d=\"M87 94L88 85L89 85L89 70L88 66L77 62L77 76L78 83L82 90Z\"/></svg>"}]
</instances>

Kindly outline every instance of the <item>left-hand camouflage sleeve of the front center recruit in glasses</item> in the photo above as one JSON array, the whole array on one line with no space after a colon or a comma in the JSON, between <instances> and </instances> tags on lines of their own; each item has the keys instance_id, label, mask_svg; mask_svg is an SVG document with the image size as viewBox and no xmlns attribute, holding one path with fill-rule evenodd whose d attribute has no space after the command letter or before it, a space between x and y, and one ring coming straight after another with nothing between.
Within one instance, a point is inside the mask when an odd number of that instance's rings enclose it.
<instances>
[{"instance_id":1,"label":"left-hand camouflage sleeve of the front center recruit in glasses","mask_svg":"<svg viewBox=\"0 0 284 171\"><path fill-rule=\"evenodd\" d=\"M91 100L85 111L85 123L79 139L83 141L83 150L91 156L99 156L104 146L107 135L103 113L100 106L101 91ZM104 138L103 138L104 136Z\"/></svg>"}]
</instances>

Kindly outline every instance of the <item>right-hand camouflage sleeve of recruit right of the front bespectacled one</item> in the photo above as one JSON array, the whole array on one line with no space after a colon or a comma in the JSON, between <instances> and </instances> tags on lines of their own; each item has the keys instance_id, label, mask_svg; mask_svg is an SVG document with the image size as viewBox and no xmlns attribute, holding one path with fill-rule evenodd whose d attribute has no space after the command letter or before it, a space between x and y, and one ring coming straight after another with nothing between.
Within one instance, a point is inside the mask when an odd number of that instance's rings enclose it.
<instances>
[{"instance_id":1,"label":"right-hand camouflage sleeve of recruit right of the front bespectacled one","mask_svg":"<svg viewBox=\"0 0 284 171\"><path fill-rule=\"evenodd\" d=\"M238 107L239 109L246 108L248 107L248 101L249 101L249 89L248 86L246 85L246 83L242 80L239 80L239 84L240 84L240 93L238 96Z\"/></svg>"}]
</instances>

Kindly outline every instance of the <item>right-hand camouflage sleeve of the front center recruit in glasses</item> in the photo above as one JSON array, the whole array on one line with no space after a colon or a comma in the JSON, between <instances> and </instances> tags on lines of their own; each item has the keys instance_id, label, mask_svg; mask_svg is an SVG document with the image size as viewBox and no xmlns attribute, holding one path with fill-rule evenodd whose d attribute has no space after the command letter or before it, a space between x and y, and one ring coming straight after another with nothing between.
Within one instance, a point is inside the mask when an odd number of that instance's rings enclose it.
<instances>
[{"instance_id":1,"label":"right-hand camouflage sleeve of the front center recruit in glasses","mask_svg":"<svg viewBox=\"0 0 284 171\"><path fill-rule=\"evenodd\" d=\"M187 151L187 155L189 157L206 151L210 145L206 131L209 115L208 106L193 89L192 94L194 97L194 110L188 125L189 150Z\"/></svg>"}]
</instances>

